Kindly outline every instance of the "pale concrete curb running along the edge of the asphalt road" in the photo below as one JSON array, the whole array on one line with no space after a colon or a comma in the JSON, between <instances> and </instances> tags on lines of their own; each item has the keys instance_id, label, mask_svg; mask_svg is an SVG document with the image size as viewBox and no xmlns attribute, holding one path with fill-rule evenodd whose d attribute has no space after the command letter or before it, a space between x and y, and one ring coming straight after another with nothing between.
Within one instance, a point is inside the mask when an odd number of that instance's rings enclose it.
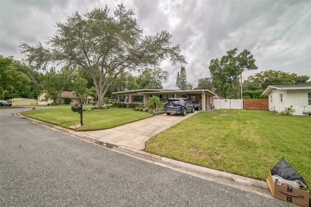
<instances>
[{"instance_id":1,"label":"pale concrete curb running along the edge of the asphalt road","mask_svg":"<svg viewBox=\"0 0 311 207\"><path fill-rule=\"evenodd\" d=\"M83 140L86 140L91 143L98 144L100 146L103 146L105 148L109 148L115 152L121 153L123 155L128 155L149 163L153 163L158 166L162 166L165 168L169 168L181 173L187 173L196 177L200 177L202 179L206 179L212 182L221 183L227 186L231 186L234 188L238 188L245 191L250 191L253 193L257 193L259 195L273 198L271 195L271 192L268 188L268 185L264 181L255 180L252 178L243 177L236 174L231 173L225 173L221 171L212 170L209 168L173 160L170 158L162 157L159 155L154 155L150 153L146 153L137 149L133 149L130 147L117 145L114 143L111 143L109 141L105 141L99 138L95 138L89 135L85 135L83 133L79 133L70 129L66 129L63 127L59 127L56 125L53 125L51 123L35 120L29 117L25 117L20 114L20 112L14 113L14 116L19 119L24 119L30 122L33 122L35 124L39 124L48 128L51 128L53 130L61 131L63 133L69 134L73 137L80 138Z\"/></svg>"}]
</instances>

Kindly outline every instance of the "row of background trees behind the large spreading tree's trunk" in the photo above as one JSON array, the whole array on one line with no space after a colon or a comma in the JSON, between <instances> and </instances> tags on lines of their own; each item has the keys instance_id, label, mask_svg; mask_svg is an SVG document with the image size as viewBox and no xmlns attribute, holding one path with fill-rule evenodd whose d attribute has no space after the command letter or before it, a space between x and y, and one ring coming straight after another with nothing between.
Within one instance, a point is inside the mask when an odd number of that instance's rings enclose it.
<instances>
[{"instance_id":1,"label":"row of background trees behind the large spreading tree's trunk","mask_svg":"<svg viewBox=\"0 0 311 207\"><path fill-rule=\"evenodd\" d=\"M159 68L138 69L137 76L130 72L122 72L113 85L107 90L106 97L112 92L135 90L142 88L163 88L162 80L166 80L168 72ZM45 100L56 102L63 91L74 91L77 97L98 95L93 81L84 69L79 67L51 67L48 71L37 71L14 57L0 55L0 99L13 98L36 99L40 93L46 92Z\"/></svg>"}]
</instances>

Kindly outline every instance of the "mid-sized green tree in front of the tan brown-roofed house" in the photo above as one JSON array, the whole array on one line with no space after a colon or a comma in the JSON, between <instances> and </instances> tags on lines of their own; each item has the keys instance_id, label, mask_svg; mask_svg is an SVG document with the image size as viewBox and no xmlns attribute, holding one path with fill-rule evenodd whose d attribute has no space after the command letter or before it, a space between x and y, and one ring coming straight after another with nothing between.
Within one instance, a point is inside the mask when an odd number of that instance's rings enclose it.
<instances>
[{"instance_id":1,"label":"mid-sized green tree in front of the tan brown-roofed house","mask_svg":"<svg viewBox=\"0 0 311 207\"><path fill-rule=\"evenodd\" d=\"M85 94L86 82L73 68L63 67L60 71L56 71L52 67L44 75L44 80L41 83L46 96L39 101L53 100L53 103L56 103L63 91L75 91L74 94L81 98Z\"/></svg>"}]
</instances>

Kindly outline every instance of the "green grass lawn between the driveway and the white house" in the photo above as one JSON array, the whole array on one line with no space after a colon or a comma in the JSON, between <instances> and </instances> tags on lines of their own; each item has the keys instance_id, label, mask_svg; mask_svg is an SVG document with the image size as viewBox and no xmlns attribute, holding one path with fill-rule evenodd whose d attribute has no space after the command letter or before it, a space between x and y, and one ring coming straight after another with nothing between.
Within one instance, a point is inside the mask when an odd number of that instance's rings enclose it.
<instances>
[{"instance_id":1,"label":"green grass lawn between the driveway and the white house","mask_svg":"<svg viewBox=\"0 0 311 207\"><path fill-rule=\"evenodd\" d=\"M145 151L263 181L284 157L311 186L311 117L201 112L150 138Z\"/></svg>"}]
</instances>

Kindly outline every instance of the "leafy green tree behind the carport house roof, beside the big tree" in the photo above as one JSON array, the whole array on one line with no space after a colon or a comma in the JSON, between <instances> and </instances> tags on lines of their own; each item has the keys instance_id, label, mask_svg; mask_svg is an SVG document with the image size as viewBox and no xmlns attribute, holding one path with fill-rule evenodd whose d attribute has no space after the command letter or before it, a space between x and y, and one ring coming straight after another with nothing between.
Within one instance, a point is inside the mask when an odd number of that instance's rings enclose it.
<instances>
[{"instance_id":1,"label":"leafy green tree behind the carport house roof, beside the big tree","mask_svg":"<svg viewBox=\"0 0 311 207\"><path fill-rule=\"evenodd\" d=\"M162 80L166 80L169 73L159 68L138 69L139 75L136 82L139 88L162 88Z\"/></svg>"}]
</instances>

